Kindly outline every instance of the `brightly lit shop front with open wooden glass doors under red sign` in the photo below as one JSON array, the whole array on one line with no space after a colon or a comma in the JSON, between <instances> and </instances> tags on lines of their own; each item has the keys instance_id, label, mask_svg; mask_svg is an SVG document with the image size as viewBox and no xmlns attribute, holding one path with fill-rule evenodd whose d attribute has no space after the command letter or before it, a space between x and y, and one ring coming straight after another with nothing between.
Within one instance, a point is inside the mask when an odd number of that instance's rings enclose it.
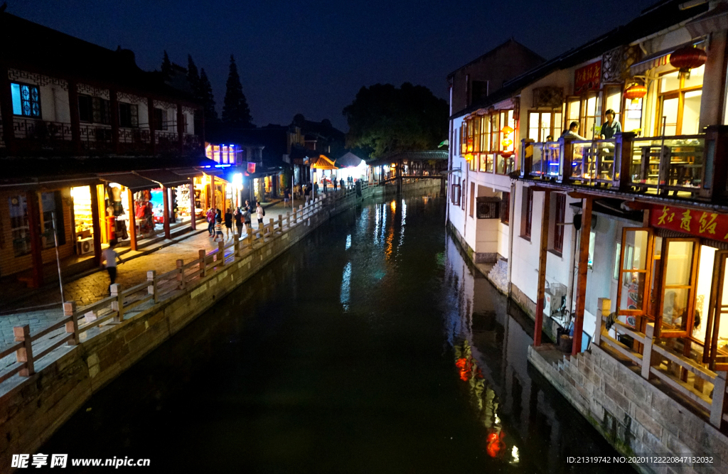
<instances>
[{"instance_id":1,"label":"brightly lit shop front with open wooden glass doors under red sign","mask_svg":"<svg viewBox=\"0 0 728 474\"><path fill-rule=\"evenodd\" d=\"M652 205L649 227L622 230L617 313L669 349L728 369L728 216Z\"/></svg>"}]
</instances>

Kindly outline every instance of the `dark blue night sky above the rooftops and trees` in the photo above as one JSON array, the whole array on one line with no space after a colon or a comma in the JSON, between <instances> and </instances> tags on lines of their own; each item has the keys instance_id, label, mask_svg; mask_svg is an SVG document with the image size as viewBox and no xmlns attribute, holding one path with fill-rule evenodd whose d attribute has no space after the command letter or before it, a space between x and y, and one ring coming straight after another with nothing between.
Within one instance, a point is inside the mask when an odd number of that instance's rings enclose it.
<instances>
[{"instance_id":1,"label":"dark blue night sky above the rooftops and trees","mask_svg":"<svg viewBox=\"0 0 728 474\"><path fill-rule=\"evenodd\" d=\"M341 109L362 86L412 82L447 98L449 72L510 36L551 58L653 3L8 0L7 11L133 50L147 70L159 68L163 50L185 67L190 53L210 76L218 112L232 53L256 125L288 124L300 112L347 130Z\"/></svg>"}]
</instances>

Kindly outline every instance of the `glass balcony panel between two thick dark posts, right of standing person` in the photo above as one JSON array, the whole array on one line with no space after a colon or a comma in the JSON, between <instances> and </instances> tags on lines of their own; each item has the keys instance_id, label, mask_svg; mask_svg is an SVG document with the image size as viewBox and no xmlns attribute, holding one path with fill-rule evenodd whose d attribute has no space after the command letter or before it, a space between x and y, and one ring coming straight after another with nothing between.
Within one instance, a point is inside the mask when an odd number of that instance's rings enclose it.
<instances>
[{"instance_id":1,"label":"glass balcony panel between two thick dark posts, right of standing person","mask_svg":"<svg viewBox=\"0 0 728 474\"><path fill-rule=\"evenodd\" d=\"M630 186L654 194L690 193L700 189L705 135L636 138Z\"/></svg>"}]
</instances>

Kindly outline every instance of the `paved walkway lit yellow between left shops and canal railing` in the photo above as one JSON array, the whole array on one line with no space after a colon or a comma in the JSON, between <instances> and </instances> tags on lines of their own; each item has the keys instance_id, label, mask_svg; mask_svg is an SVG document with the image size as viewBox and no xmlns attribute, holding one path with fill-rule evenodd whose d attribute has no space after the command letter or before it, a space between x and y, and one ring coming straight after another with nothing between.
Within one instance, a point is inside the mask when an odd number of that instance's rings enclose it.
<instances>
[{"instance_id":1,"label":"paved walkway lit yellow between left shops and canal railing","mask_svg":"<svg viewBox=\"0 0 728 474\"><path fill-rule=\"evenodd\" d=\"M303 201L297 200L296 208L300 204L303 204ZM285 217L287 210L290 210L290 203L284 205L283 202L280 202L267 207L264 222L267 223L270 218L277 220L279 214ZM197 225L199 229L199 226L204 226L205 223ZM253 229L257 229L257 226L258 222L255 215L253 215ZM225 232L224 226L223 232ZM226 243L228 242L230 240L226 240ZM210 251L217 248L217 246L218 243L213 242L207 232L182 238L179 242L160 248L148 255L137 256L129 261L124 261L123 264L117 267L116 283L122 285L122 288L130 288L145 282L148 270L157 270L157 274L169 272L175 268L178 259L181 258L184 261L194 260L198 258L200 249ZM129 256L129 253L124 254L122 259ZM108 274L104 270L87 274L76 280L66 281L63 285L64 299L66 301L76 301L77 307L84 307L108 296L108 284ZM54 303L57 304L34 311L23 311L23 308L42 307ZM20 299L2 307L3 312L12 310L18 312L0 315L0 347L12 344L15 341L12 333L14 326L28 324L31 326L32 334L61 319L63 317L63 307L60 299L60 289L58 286L41 288L41 291L34 292L27 299Z\"/></svg>"}]
</instances>

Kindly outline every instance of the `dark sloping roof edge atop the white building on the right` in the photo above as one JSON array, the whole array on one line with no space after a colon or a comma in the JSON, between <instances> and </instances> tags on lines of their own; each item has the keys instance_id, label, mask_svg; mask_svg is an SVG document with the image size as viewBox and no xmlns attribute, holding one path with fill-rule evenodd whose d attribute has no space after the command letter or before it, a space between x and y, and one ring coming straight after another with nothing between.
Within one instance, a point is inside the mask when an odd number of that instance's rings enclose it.
<instances>
[{"instance_id":1,"label":"dark sloping roof edge atop the white building on the right","mask_svg":"<svg viewBox=\"0 0 728 474\"><path fill-rule=\"evenodd\" d=\"M680 9L680 4L682 3L684 3L684 0L665 0L654 4L652 7L645 9L641 15L630 21L630 23L614 28L609 33L582 44L582 46L564 52L562 55L543 63L541 66L537 66L531 69L531 71L511 79L503 84L501 89L488 95L483 100L474 103L472 106L459 111L450 118L455 119L459 116L470 114L470 112L476 111L479 108L491 106L501 100L517 95L523 87L527 87L529 84L536 82L538 79L542 79L553 71L571 68L587 60L598 58L605 52L613 50L622 44L630 44L645 36L681 23L684 20L701 15L708 10L707 2L685 10Z\"/></svg>"}]
</instances>

